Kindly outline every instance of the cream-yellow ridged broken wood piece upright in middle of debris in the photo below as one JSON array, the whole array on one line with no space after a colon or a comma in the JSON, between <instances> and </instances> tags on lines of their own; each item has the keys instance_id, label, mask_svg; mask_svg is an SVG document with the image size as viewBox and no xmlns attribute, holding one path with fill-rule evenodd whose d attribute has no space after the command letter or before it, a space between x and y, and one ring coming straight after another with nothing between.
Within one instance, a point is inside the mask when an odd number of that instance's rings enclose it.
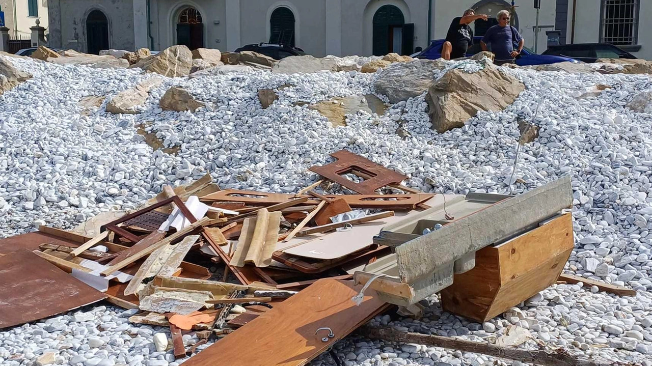
<instances>
[{"instance_id":1,"label":"cream-yellow ridged broken wood piece upright in middle of debris","mask_svg":"<svg viewBox=\"0 0 652 366\"><path fill-rule=\"evenodd\" d=\"M280 212L269 212L266 208L259 210L256 218L244 219L231 266L243 267L246 263L253 263L256 267L269 266L278 242L280 219Z\"/></svg>"}]
</instances>

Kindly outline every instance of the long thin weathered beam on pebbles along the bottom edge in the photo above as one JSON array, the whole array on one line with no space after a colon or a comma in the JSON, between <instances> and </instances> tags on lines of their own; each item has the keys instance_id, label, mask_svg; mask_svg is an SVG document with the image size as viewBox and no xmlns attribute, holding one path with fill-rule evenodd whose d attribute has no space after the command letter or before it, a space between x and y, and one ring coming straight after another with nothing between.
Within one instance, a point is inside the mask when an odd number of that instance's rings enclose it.
<instances>
[{"instance_id":1,"label":"long thin weathered beam on pebbles along the bottom edge","mask_svg":"<svg viewBox=\"0 0 652 366\"><path fill-rule=\"evenodd\" d=\"M486 354L488 356L512 359L523 363L534 363L535 365L544 366L606 366L612 363L599 363L590 361L585 358L574 358L563 349L558 350L523 350L519 348L510 348L503 346L491 345L489 343L479 343L466 341L465 339L456 339L451 337L441 337L439 335L426 335L421 333L406 333L393 328L372 328L363 326L358 329L359 334L371 339L381 339L383 341L396 343L415 343L417 345L426 345L433 347L448 348L460 350L462 352L471 352L476 354Z\"/></svg>"}]
</instances>

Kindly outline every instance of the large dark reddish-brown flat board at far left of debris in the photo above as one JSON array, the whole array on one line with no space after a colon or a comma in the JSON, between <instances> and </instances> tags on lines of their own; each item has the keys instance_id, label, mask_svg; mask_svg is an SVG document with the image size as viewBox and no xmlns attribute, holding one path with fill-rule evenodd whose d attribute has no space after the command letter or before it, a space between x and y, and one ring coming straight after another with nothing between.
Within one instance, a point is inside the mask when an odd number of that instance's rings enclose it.
<instances>
[{"instance_id":1,"label":"large dark reddish-brown flat board at far left of debris","mask_svg":"<svg viewBox=\"0 0 652 366\"><path fill-rule=\"evenodd\" d=\"M52 317L106 298L78 279L20 249L0 257L0 329Z\"/></svg>"}]
</instances>

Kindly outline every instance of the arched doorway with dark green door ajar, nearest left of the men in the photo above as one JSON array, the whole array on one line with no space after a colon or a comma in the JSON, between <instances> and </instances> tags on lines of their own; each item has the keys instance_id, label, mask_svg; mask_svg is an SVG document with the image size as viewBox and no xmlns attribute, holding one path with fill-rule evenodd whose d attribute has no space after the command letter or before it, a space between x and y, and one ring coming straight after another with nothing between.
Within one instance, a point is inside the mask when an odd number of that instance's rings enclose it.
<instances>
[{"instance_id":1,"label":"arched doorway with dark green door ajar, nearest left of the men","mask_svg":"<svg viewBox=\"0 0 652 366\"><path fill-rule=\"evenodd\" d=\"M403 53L403 12L394 5L383 5L376 10L373 21L374 56Z\"/></svg>"}]
</instances>

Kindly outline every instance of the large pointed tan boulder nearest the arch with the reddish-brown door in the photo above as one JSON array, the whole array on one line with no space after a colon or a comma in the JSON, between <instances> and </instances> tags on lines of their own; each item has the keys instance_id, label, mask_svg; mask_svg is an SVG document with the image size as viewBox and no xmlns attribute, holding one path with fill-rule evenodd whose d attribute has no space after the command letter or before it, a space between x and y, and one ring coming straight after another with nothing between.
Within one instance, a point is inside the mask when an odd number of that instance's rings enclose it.
<instances>
[{"instance_id":1,"label":"large pointed tan boulder nearest the arch with the reddish-brown door","mask_svg":"<svg viewBox=\"0 0 652 366\"><path fill-rule=\"evenodd\" d=\"M183 45L172 46L132 64L129 68L141 68L145 72L155 72L167 77L188 76L192 68L192 52Z\"/></svg>"}]
</instances>

